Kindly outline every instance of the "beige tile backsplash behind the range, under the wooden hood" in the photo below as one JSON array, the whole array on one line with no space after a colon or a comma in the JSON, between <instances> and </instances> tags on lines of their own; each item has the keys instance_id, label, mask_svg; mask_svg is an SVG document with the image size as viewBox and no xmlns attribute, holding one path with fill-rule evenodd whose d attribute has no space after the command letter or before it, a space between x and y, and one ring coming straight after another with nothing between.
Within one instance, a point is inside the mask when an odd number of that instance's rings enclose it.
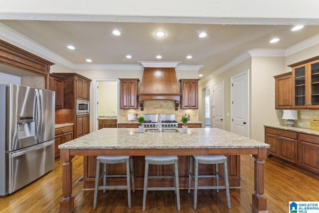
<instances>
[{"instance_id":1,"label":"beige tile backsplash behind the range, under the wooden hood","mask_svg":"<svg viewBox=\"0 0 319 213\"><path fill-rule=\"evenodd\" d=\"M120 110L119 121L127 121L128 113L137 113L139 116L144 114L175 114L175 120L180 121L183 115L190 117L192 121L198 121L198 110L182 110L180 109L180 103L178 111L175 111L175 101L173 100L146 100L144 101L144 111L141 111L140 106L137 110Z\"/></svg>"}]
</instances>

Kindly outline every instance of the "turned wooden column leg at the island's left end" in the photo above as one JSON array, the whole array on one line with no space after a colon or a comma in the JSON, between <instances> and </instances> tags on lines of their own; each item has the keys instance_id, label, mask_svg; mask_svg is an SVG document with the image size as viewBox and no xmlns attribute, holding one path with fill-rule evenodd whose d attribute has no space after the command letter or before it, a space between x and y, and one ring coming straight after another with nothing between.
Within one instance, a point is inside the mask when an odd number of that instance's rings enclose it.
<instances>
[{"instance_id":1,"label":"turned wooden column leg at the island's left end","mask_svg":"<svg viewBox=\"0 0 319 213\"><path fill-rule=\"evenodd\" d=\"M71 213L74 210L74 196L72 196L72 159L69 149L60 150L62 164L62 199L60 213Z\"/></svg>"}]
</instances>

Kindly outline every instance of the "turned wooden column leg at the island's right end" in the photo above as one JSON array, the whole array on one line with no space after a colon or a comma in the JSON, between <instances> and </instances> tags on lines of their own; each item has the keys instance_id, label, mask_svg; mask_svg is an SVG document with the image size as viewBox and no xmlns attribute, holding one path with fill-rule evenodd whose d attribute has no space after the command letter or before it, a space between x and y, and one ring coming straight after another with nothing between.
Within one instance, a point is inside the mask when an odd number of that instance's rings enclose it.
<instances>
[{"instance_id":1,"label":"turned wooden column leg at the island's right end","mask_svg":"<svg viewBox=\"0 0 319 213\"><path fill-rule=\"evenodd\" d=\"M267 148L259 148L255 157L255 193L252 195L251 207L255 213L268 213L265 190L265 159Z\"/></svg>"}]
</instances>

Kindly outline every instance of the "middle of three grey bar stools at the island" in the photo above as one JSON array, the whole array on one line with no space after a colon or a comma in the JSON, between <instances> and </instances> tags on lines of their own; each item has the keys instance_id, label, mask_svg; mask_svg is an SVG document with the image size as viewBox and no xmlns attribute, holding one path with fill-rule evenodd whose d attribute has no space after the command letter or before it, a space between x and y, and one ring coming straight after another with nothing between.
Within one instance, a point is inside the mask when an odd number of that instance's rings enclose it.
<instances>
[{"instance_id":1,"label":"middle of three grey bar stools at the island","mask_svg":"<svg viewBox=\"0 0 319 213\"><path fill-rule=\"evenodd\" d=\"M145 176L144 176L142 211L145 211L146 194L148 193L148 191L169 191L169 190L175 191L176 199L177 199L177 210L180 211L177 159L178 159L177 156L145 156ZM173 176L149 176L149 164L155 164L155 165L174 164ZM173 178L174 187L148 187L148 179L152 179L152 178Z\"/></svg>"}]
</instances>

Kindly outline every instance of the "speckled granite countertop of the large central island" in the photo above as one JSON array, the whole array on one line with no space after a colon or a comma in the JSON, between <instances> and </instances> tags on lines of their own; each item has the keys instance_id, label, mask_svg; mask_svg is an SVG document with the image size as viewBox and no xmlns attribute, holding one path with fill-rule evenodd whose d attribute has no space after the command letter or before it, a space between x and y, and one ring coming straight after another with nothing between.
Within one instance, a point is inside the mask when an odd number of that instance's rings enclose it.
<instances>
[{"instance_id":1,"label":"speckled granite countertop of the large central island","mask_svg":"<svg viewBox=\"0 0 319 213\"><path fill-rule=\"evenodd\" d=\"M103 128L59 145L59 149L205 149L268 148L269 144L218 128L188 128L187 133L144 132L138 128Z\"/></svg>"}]
</instances>

